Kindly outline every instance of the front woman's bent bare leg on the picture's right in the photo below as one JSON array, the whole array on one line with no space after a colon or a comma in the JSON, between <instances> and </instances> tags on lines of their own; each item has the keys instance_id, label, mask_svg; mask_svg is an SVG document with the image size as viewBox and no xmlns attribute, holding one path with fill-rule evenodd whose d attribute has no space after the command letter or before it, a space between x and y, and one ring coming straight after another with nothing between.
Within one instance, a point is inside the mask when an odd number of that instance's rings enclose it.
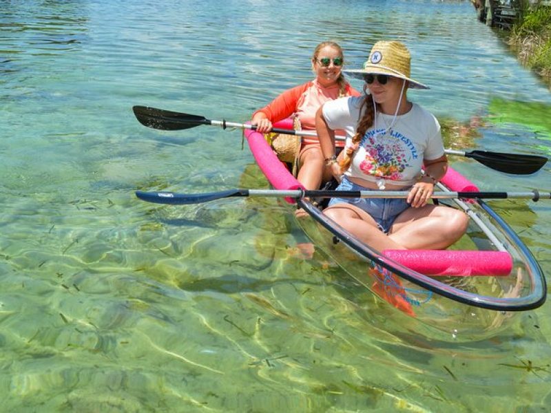
<instances>
[{"instance_id":1,"label":"front woman's bent bare leg on the picture's right","mask_svg":"<svg viewBox=\"0 0 551 413\"><path fill-rule=\"evenodd\" d=\"M459 240L467 226L463 211L427 204L398 215L388 237L406 249L444 249Z\"/></svg>"}]
</instances>

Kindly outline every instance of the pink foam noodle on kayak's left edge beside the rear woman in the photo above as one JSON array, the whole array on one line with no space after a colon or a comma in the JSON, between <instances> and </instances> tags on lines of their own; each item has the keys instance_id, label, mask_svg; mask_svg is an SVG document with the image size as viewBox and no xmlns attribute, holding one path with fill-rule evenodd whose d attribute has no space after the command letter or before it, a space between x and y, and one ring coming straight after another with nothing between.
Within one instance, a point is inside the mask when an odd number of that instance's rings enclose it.
<instances>
[{"instance_id":1,"label":"pink foam noodle on kayak's left edge beside the rear woman","mask_svg":"<svg viewBox=\"0 0 551 413\"><path fill-rule=\"evenodd\" d=\"M287 119L281 122L275 123L274 127L281 127L284 129L293 129L293 121L290 120L287 125ZM289 172L284 163L281 162L271 149L263 134L259 134L257 131L251 129L245 129L245 138L249 143L249 149L256 160L256 163L262 169L264 176L268 178L269 182L275 189L282 190L295 190L304 189L302 184L296 180L296 178ZM293 198L285 198L290 204L294 204Z\"/></svg>"}]
</instances>

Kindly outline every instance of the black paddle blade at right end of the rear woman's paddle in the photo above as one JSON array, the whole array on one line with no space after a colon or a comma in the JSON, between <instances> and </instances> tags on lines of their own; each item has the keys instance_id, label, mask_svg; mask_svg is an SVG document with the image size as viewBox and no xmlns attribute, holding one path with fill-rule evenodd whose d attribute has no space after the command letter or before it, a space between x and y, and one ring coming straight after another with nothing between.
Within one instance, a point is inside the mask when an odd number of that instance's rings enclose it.
<instances>
[{"instance_id":1,"label":"black paddle blade at right end of the rear woman's paddle","mask_svg":"<svg viewBox=\"0 0 551 413\"><path fill-rule=\"evenodd\" d=\"M475 159L496 171L514 175L530 175L530 173L539 171L548 161L545 156L522 155L520 153L470 151L466 152L465 156Z\"/></svg>"}]
</instances>

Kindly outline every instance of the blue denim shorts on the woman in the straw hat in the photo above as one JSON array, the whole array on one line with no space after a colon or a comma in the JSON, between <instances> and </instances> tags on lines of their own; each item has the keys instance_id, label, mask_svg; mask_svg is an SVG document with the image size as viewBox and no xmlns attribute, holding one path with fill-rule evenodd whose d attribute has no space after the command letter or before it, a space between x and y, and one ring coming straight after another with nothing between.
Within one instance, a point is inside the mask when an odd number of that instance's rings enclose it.
<instances>
[{"instance_id":1,"label":"blue denim shorts on the woman in the straw hat","mask_svg":"<svg viewBox=\"0 0 551 413\"><path fill-rule=\"evenodd\" d=\"M375 191L375 189L354 184L343 176L337 191ZM410 206L405 198L332 198L329 201L329 207L343 202L366 211L384 233L390 231L397 216Z\"/></svg>"}]
</instances>

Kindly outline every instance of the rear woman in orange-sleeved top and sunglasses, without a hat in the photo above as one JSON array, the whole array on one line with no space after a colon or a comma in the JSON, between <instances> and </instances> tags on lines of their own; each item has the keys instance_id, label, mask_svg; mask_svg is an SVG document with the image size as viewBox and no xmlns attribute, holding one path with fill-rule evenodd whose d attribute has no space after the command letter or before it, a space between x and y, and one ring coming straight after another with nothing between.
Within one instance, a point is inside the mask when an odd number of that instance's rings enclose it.
<instances>
[{"instance_id":1,"label":"rear woman in orange-sleeved top and sunglasses, without a hat","mask_svg":"<svg viewBox=\"0 0 551 413\"><path fill-rule=\"evenodd\" d=\"M315 47L311 63L316 75L313 81L283 92L253 114L251 124L257 125L257 131L267 133L271 131L272 123L290 116L300 121L300 128L313 130L315 112L323 103L340 96L360 96L360 92L351 87L342 75L344 57L340 45L333 41L320 43ZM304 138L298 149L300 169L297 179L306 189L318 189L322 176L325 175L326 180L331 179L331 171L324 168L320 142L317 138Z\"/></svg>"}]
</instances>

